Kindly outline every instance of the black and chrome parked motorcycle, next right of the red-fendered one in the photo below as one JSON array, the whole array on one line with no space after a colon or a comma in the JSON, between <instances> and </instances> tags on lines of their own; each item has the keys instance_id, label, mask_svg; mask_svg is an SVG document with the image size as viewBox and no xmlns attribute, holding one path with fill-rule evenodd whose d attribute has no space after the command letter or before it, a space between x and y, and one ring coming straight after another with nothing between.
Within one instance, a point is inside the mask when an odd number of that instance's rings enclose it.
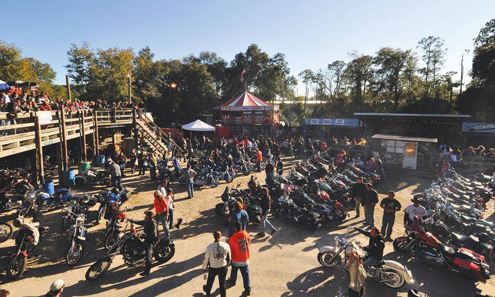
<instances>
[{"instance_id":1,"label":"black and chrome parked motorcycle, next right of the red-fendered one","mask_svg":"<svg viewBox=\"0 0 495 297\"><path fill-rule=\"evenodd\" d=\"M71 245L65 255L65 263L67 263L70 267L74 267L84 253L83 244L86 243L87 231L84 224L86 214L84 212L79 214L75 214L73 212L70 213L75 216L75 222L72 226L70 226L70 229L67 230L67 239Z\"/></svg>"}]
</instances>

